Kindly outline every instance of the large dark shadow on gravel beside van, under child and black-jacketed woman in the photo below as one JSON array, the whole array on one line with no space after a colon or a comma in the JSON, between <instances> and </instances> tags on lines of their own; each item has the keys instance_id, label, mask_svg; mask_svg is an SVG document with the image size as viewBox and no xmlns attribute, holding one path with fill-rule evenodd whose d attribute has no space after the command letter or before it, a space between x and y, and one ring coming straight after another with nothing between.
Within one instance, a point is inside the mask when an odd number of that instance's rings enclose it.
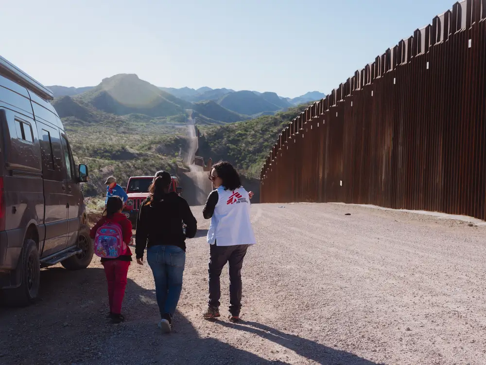
<instances>
[{"instance_id":1,"label":"large dark shadow on gravel beside van, under child and black-jacketed woman","mask_svg":"<svg viewBox=\"0 0 486 365\"><path fill-rule=\"evenodd\" d=\"M125 323L107 323L101 266L78 272L42 270L41 282L37 303L0 308L0 364L276 364L201 337L179 312L173 333L161 334L155 290L131 279L123 301Z\"/></svg>"}]
</instances>

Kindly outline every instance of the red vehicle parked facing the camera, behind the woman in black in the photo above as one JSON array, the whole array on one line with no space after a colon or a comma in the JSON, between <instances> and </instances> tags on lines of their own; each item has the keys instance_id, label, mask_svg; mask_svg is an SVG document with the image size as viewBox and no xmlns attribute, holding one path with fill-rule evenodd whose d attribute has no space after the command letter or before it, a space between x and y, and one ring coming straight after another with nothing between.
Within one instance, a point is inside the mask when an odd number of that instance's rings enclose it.
<instances>
[{"instance_id":1,"label":"red vehicle parked facing the camera, behind the woman in black","mask_svg":"<svg viewBox=\"0 0 486 365\"><path fill-rule=\"evenodd\" d=\"M132 176L128 179L128 184L126 185L128 200L123 207L122 213L132 222L134 229L137 225L137 214L139 213L140 204L148 197L149 187L153 179L153 176ZM169 191L174 191L179 195L182 192L182 187L179 186L179 179L175 176L172 177Z\"/></svg>"}]
</instances>

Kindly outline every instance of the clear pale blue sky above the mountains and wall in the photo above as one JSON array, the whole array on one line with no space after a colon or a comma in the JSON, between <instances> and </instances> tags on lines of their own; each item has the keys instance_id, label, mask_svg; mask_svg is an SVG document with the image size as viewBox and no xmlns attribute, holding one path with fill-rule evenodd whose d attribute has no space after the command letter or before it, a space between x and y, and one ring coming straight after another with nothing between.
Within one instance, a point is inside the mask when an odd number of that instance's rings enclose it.
<instances>
[{"instance_id":1,"label":"clear pale blue sky above the mountains and wall","mask_svg":"<svg viewBox=\"0 0 486 365\"><path fill-rule=\"evenodd\" d=\"M45 85L330 92L453 0L3 1L0 52Z\"/></svg>"}]
</instances>

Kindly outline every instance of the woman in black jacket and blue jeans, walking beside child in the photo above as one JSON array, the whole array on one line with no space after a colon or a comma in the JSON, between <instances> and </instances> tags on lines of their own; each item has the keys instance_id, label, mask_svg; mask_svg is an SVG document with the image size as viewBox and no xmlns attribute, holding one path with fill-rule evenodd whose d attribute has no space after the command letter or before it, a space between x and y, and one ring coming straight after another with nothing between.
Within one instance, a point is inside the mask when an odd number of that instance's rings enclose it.
<instances>
[{"instance_id":1,"label":"woman in black jacket and blue jeans, walking beside child","mask_svg":"<svg viewBox=\"0 0 486 365\"><path fill-rule=\"evenodd\" d=\"M140 206L135 236L139 265L143 265L143 251L147 246L147 262L154 274L161 316L158 327L165 332L172 330L172 317L182 290L185 239L194 237L197 230L197 221L187 201L169 192L171 181L167 171L156 173L149 188L150 195ZM185 235L182 222L186 224Z\"/></svg>"}]
</instances>

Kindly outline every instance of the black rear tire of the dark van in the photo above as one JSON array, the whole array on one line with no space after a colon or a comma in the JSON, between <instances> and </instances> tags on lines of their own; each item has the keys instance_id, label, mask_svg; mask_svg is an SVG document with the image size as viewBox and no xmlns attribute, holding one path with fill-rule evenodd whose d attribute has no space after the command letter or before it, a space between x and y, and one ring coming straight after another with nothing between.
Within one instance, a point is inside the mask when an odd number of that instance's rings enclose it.
<instances>
[{"instance_id":1,"label":"black rear tire of the dark van","mask_svg":"<svg viewBox=\"0 0 486 365\"><path fill-rule=\"evenodd\" d=\"M4 304L23 307L37 298L40 286L39 249L32 239L26 239L18 260L17 270L21 270L20 286L4 290Z\"/></svg>"}]
</instances>

